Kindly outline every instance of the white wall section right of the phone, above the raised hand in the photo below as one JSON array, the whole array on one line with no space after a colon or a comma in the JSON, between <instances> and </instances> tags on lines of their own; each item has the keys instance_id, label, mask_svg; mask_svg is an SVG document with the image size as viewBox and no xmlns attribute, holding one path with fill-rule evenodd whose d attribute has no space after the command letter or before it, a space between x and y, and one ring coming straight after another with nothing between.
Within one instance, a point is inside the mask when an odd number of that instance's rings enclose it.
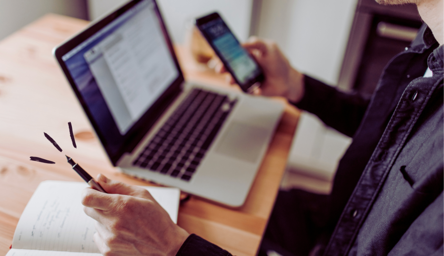
<instances>
[{"instance_id":1,"label":"white wall section right of the phone, above the raised hand","mask_svg":"<svg viewBox=\"0 0 444 256\"><path fill-rule=\"evenodd\" d=\"M262 0L257 35L277 41L290 63L336 85L358 0Z\"/></svg>"}]
</instances>

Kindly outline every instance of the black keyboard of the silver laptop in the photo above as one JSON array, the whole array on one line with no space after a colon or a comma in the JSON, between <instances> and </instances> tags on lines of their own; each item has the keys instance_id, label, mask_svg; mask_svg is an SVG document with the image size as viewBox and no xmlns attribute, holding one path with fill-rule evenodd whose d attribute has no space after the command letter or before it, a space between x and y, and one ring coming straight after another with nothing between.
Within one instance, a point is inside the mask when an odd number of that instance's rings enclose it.
<instances>
[{"instance_id":1,"label":"black keyboard of the silver laptop","mask_svg":"<svg viewBox=\"0 0 444 256\"><path fill-rule=\"evenodd\" d=\"M236 102L193 89L133 165L189 181Z\"/></svg>"}]
</instances>

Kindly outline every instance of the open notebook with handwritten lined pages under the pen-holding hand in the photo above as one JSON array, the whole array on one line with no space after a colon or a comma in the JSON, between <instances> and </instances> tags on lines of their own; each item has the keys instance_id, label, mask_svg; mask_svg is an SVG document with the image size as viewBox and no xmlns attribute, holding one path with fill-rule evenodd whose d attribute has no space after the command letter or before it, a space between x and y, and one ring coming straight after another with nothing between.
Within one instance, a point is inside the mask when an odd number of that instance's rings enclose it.
<instances>
[{"instance_id":1,"label":"open notebook with handwritten lined pages under the pen-holding hand","mask_svg":"<svg viewBox=\"0 0 444 256\"><path fill-rule=\"evenodd\" d=\"M92 237L94 220L80 203L85 182L40 183L18 221L6 256L100 256ZM180 190L143 187L176 223Z\"/></svg>"}]
</instances>

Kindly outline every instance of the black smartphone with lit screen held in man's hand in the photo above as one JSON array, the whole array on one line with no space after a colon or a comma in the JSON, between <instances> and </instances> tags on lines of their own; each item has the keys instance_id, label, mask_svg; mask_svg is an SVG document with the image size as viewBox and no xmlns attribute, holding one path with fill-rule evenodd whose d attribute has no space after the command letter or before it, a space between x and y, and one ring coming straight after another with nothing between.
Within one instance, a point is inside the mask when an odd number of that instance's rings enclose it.
<instances>
[{"instance_id":1,"label":"black smartphone with lit screen held in man's hand","mask_svg":"<svg viewBox=\"0 0 444 256\"><path fill-rule=\"evenodd\" d=\"M196 19L196 26L221 59L240 88L251 93L264 80L264 73L243 48L218 13Z\"/></svg>"}]
</instances>

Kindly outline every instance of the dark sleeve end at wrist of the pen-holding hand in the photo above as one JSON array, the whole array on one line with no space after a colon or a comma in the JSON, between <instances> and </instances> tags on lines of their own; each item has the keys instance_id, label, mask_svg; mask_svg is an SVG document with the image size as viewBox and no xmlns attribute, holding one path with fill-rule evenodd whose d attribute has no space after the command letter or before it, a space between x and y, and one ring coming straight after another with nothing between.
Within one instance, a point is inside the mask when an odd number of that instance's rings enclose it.
<instances>
[{"instance_id":1,"label":"dark sleeve end at wrist of the pen-holding hand","mask_svg":"<svg viewBox=\"0 0 444 256\"><path fill-rule=\"evenodd\" d=\"M232 256L229 252L207 240L191 234L180 247L176 256Z\"/></svg>"}]
</instances>

